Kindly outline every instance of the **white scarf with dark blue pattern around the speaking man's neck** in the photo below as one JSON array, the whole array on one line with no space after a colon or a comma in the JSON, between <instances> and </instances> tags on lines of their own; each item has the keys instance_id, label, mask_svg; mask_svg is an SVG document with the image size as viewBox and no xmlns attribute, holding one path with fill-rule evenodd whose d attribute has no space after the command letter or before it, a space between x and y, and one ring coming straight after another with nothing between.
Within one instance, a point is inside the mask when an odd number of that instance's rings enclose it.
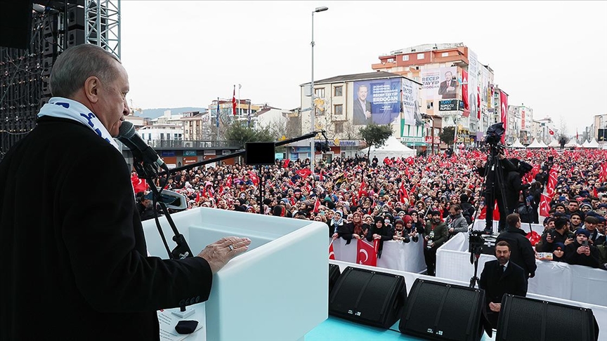
<instances>
[{"instance_id":1,"label":"white scarf with dark blue pattern around the speaking man's neck","mask_svg":"<svg viewBox=\"0 0 607 341\"><path fill-rule=\"evenodd\" d=\"M38 117L42 116L78 121L84 124L84 126L91 128L100 138L103 138L103 140L106 140L107 143L120 151L120 147L118 147L112 135L107 132L107 129L101 124L97 116L80 102L63 97L53 97L40 109Z\"/></svg>"}]
</instances>

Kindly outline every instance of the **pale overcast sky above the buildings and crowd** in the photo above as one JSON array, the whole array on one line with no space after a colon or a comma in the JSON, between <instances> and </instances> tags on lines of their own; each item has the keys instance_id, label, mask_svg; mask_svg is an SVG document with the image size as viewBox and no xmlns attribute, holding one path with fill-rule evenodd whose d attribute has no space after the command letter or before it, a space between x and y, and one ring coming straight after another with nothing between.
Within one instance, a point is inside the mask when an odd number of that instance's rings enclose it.
<instances>
[{"instance_id":1,"label":"pale overcast sky above the buildings and crowd","mask_svg":"<svg viewBox=\"0 0 607 341\"><path fill-rule=\"evenodd\" d=\"M580 134L607 114L607 1L123 0L122 61L135 107L208 107L217 97L299 107L299 84L372 72L379 55L462 42L510 105ZM238 92L238 90L237 90ZM238 96L238 94L237 94Z\"/></svg>"}]
</instances>

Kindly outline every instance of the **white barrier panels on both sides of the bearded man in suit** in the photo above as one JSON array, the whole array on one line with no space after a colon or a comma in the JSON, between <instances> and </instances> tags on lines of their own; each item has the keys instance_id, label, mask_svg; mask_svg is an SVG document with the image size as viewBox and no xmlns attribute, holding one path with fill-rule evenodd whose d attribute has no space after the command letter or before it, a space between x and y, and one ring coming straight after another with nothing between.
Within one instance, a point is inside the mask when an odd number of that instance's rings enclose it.
<instances>
[{"instance_id":1,"label":"white barrier panels on both sides of the bearded man in suit","mask_svg":"<svg viewBox=\"0 0 607 341\"><path fill-rule=\"evenodd\" d=\"M470 263L468 234L456 234L436 253L436 276L456 281L470 281L474 266ZM485 262L495 260L493 255L481 254L478 259L478 277ZM529 279L528 293L559 297L565 300L607 307L607 271L568 265L565 262L536 260L535 277Z\"/></svg>"}]
</instances>

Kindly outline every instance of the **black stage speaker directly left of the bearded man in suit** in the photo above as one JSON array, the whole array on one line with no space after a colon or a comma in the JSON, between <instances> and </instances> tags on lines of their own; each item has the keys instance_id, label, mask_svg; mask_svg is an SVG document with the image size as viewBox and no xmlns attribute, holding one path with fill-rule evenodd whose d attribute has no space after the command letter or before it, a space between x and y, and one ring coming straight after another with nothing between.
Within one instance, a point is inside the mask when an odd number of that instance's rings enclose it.
<instances>
[{"instance_id":1,"label":"black stage speaker directly left of the bearded man in suit","mask_svg":"<svg viewBox=\"0 0 607 341\"><path fill-rule=\"evenodd\" d=\"M416 279L398 329L426 340L478 341L488 327L484 306L485 290Z\"/></svg>"}]
</instances>

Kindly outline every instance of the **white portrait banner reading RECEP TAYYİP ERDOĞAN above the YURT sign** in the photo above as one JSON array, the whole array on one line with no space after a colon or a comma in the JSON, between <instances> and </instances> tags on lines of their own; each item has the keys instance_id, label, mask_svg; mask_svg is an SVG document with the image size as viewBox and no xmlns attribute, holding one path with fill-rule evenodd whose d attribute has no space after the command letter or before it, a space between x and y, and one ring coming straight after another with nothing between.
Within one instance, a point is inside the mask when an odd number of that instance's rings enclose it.
<instances>
[{"instance_id":1,"label":"white portrait banner reading RECEP TAYY\u0130P ERDO\u011eAN above the YURT sign","mask_svg":"<svg viewBox=\"0 0 607 341\"><path fill-rule=\"evenodd\" d=\"M439 67L422 70L422 89L426 100L457 98L457 67Z\"/></svg>"}]
</instances>

